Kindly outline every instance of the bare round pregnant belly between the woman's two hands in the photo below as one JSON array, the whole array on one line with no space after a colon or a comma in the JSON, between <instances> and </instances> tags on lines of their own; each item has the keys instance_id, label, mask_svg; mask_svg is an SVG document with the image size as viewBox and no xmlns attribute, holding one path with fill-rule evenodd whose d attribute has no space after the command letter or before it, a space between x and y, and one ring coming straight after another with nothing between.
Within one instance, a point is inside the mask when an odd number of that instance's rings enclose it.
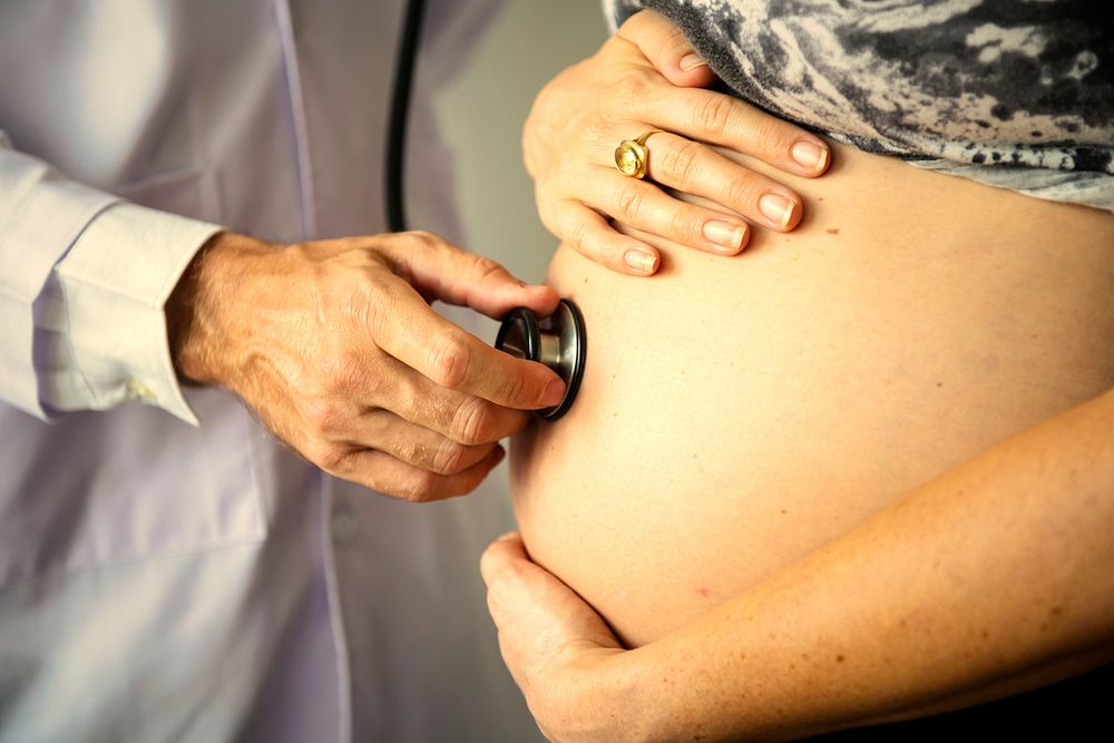
<instances>
[{"instance_id":1,"label":"bare round pregnant belly between the woman's two hands","mask_svg":"<svg viewBox=\"0 0 1114 743\"><path fill-rule=\"evenodd\" d=\"M511 451L531 556L629 645L1114 385L1114 217L839 148L792 234L653 278L558 250L576 404Z\"/></svg>"}]
</instances>

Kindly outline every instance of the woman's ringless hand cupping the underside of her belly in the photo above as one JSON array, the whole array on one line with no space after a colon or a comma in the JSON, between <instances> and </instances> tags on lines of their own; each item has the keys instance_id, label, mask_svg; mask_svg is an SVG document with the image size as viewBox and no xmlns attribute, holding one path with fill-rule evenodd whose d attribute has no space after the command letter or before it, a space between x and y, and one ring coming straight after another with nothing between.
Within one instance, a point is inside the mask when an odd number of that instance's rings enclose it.
<instances>
[{"instance_id":1,"label":"woman's ringless hand cupping the underside of her belly","mask_svg":"<svg viewBox=\"0 0 1114 743\"><path fill-rule=\"evenodd\" d=\"M502 658L546 737L560 743L635 740L638 711L627 704L620 715L605 701L622 688L625 678L615 666L627 652L599 615L530 561L517 534L487 548L480 571Z\"/></svg>"}]
</instances>

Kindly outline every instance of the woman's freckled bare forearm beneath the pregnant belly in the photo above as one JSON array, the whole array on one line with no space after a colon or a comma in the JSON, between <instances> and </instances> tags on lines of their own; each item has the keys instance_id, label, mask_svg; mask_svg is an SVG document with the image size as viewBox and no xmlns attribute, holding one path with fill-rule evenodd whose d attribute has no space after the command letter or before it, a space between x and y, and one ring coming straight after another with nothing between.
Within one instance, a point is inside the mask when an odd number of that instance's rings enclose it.
<instances>
[{"instance_id":1,"label":"woman's freckled bare forearm beneath the pregnant belly","mask_svg":"<svg viewBox=\"0 0 1114 743\"><path fill-rule=\"evenodd\" d=\"M1112 534L1114 391L615 654L596 702L647 740L792 737L1048 683L1112 657Z\"/></svg>"}]
</instances>

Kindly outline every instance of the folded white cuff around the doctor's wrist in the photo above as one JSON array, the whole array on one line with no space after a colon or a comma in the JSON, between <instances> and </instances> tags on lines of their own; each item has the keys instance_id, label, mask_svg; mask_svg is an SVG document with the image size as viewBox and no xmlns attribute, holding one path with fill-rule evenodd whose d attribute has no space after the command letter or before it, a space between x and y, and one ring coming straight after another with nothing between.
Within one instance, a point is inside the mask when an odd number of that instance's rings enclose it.
<instances>
[{"instance_id":1,"label":"folded white cuff around the doctor's wrist","mask_svg":"<svg viewBox=\"0 0 1114 743\"><path fill-rule=\"evenodd\" d=\"M78 384L58 410L158 405L197 424L182 394L165 305L197 251L222 227L135 204L95 218L55 267Z\"/></svg>"}]
</instances>

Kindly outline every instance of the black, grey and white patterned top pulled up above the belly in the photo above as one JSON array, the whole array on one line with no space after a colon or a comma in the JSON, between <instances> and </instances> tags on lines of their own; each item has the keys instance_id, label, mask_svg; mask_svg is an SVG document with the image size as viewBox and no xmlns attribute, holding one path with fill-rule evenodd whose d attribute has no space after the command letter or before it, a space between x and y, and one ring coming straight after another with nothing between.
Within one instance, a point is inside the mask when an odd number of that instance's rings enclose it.
<instances>
[{"instance_id":1,"label":"black, grey and white patterned top pulled up above the belly","mask_svg":"<svg viewBox=\"0 0 1114 743\"><path fill-rule=\"evenodd\" d=\"M1114 211L1111 0L605 0L736 95L860 149Z\"/></svg>"}]
</instances>

